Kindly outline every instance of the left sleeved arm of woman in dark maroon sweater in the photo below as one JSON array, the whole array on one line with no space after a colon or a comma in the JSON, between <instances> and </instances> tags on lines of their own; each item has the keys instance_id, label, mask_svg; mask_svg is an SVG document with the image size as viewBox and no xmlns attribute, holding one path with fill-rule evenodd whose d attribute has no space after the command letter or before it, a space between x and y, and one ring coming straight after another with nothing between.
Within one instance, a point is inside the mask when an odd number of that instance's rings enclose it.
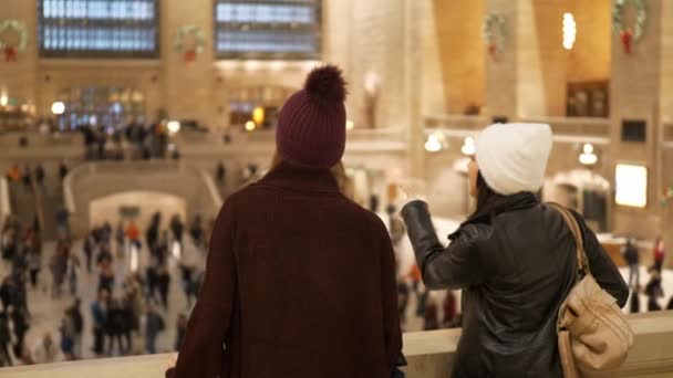
<instances>
[{"instance_id":1,"label":"left sleeved arm of woman in dark maroon sweater","mask_svg":"<svg viewBox=\"0 0 673 378\"><path fill-rule=\"evenodd\" d=\"M206 276L189 317L185 339L169 378L217 377L221 372L222 344L229 340L236 301L236 259L232 251L235 211L231 198L220 211L208 252ZM221 377L227 378L227 377Z\"/></svg>"}]
</instances>

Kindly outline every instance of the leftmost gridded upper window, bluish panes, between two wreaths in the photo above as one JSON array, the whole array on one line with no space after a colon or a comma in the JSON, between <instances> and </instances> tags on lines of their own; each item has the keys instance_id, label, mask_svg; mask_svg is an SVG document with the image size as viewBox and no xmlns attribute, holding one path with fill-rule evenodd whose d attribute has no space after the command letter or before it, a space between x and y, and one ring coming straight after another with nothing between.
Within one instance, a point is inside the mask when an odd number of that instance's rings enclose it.
<instances>
[{"instance_id":1,"label":"leftmost gridded upper window, bluish panes, between two wreaths","mask_svg":"<svg viewBox=\"0 0 673 378\"><path fill-rule=\"evenodd\" d=\"M158 0L40 0L38 4L42 56L158 56Z\"/></svg>"}]
</instances>

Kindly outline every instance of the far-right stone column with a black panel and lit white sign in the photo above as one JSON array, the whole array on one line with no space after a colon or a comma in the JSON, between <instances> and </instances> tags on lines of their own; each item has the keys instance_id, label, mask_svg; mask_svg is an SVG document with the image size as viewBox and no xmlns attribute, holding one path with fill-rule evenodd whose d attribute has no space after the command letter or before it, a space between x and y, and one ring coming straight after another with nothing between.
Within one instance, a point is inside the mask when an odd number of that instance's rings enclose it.
<instances>
[{"instance_id":1,"label":"far-right stone column with a black panel and lit white sign","mask_svg":"<svg viewBox=\"0 0 673 378\"><path fill-rule=\"evenodd\" d=\"M612 34L612 80L611 80L611 149L617 161L640 164L648 167L648 206L645 209L615 206L613 229L615 232L638 238L653 239L662 231L663 209L660 204L663 180L661 178L661 113L667 113L671 105L670 88L662 91L663 76L671 69L663 65L664 45L670 50L671 36L664 28L671 18L670 0L648 0L648 21L643 38L633 43L631 54L622 48L620 36ZM613 1L614 3L614 1ZM667 15L664 14L667 10ZM666 21L664 21L664 18ZM667 32L670 33L670 31ZM669 62L669 66L671 63ZM664 71L665 70L665 71ZM662 104L666 97L669 104ZM646 122L644 143L622 141L622 120L642 119ZM614 168L612 168L614 176ZM614 181L614 177L612 179ZM671 245L671 244L669 244Z\"/></svg>"}]
</instances>

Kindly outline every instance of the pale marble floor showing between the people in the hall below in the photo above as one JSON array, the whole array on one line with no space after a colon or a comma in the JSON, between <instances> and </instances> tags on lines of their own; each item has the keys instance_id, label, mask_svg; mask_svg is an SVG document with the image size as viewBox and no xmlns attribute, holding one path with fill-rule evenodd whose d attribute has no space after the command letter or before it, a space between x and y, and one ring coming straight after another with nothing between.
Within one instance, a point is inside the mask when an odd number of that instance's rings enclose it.
<instances>
[{"instance_id":1,"label":"pale marble floor showing between the people in the hall below","mask_svg":"<svg viewBox=\"0 0 673 378\"><path fill-rule=\"evenodd\" d=\"M451 233L458 227L458 222L452 221L448 219L435 219L435 227L437 228L438 234L442 240L446 240L446 235ZM200 266L205 265L205 253L204 251L194 246L190 243L188 238L185 238L185 251L178 253L174 251L169 258L169 269L172 272L172 283L170 283L170 294L169 294L169 306L168 309L165 311L161 307L159 313L166 321L166 330L161 334L157 339L157 351L172 351L173 345L175 343L176 335L176 319L179 313L188 314L189 307L187 306L187 302L185 298L185 294L180 286L179 272L177 267L177 263L180 260L189 260L194 263L199 264ZM114 246L114 245L113 245ZM52 254L54 249L53 243L46 243L44 255L49 256ZM82 255L82 243L76 242L73 245L73 252ZM413 252L411 249L411 244L408 240L405 238L404 241L396 248L397 259L401 264L401 269L403 272L406 272L411 264L413 263ZM116 259L116 280L115 280L115 293L114 295L118 295L122 282L124 277L132 271L132 267L143 269L148 263L148 254L147 251L136 251L135 253L127 253L123 259ZM0 276L4 276L8 266L4 266L3 263L0 262ZM621 273L624 277L628 275L628 269L622 269ZM649 280L645 267L642 267L641 271L641 283L644 285ZM61 318L63 317L64 309L73 303L73 296L70 294L63 294L59 298L53 298L50 291L51 282L51 273L46 269L46 259L43 262L43 270L40 275L40 284L39 287L33 290L29 290L29 308L32 314L31 318L31 328L27 334L27 345L32 349L34 345L39 342L42 335L45 333L51 333L55 340L59 339L59 326L61 323ZM664 283L664 293L665 296L660 301L662 306L665 306L671 295L673 295L673 271L665 271L663 276ZM83 356L84 358L93 358L94 354L91 350L93 345L93 335L91 330L91 303L95 297L95 288L97 286L97 275L95 273L86 273L85 271L81 271L79 286L77 286L77 296L82 300L82 312L84 315L84 338L83 338ZM432 296L439 304L444 298L445 292L435 292L432 293ZM459 293L456 292L457 303L459 304ZM405 330L420 330L422 329L423 322L421 318L416 317L413 313L415 309L416 298L412 296L408 306L408 316L407 324L405 326ZM442 307L439 305L439 307ZM629 308L627 306L625 308ZM646 308L646 298L643 296L641 300L641 309ZM441 311L441 309L439 309ZM439 314L439 318L443 317L443 314ZM133 354L142 354L143 339L139 335L134 339L134 350ZM116 350L115 350L116 354Z\"/></svg>"}]
</instances>

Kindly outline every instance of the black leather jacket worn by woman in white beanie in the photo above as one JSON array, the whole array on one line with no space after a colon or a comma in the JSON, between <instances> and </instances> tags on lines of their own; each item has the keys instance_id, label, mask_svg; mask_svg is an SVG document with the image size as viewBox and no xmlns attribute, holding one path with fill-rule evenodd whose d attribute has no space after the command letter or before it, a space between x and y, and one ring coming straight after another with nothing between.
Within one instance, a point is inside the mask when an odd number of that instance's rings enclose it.
<instances>
[{"instance_id":1,"label":"black leather jacket worn by woman in white beanie","mask_svg":"<svg viewBox=\"0 0 673 378\"><path fill-rule=\"evenodd\" d=\"M629 288L584 221L591 273L623 307ZM402 209L423 281L463 290L454 377L562 377L556 321L574 281L574 240L561 216L529 192L505 197L437 240L427 204Z\"/></svg>"}]
</instances>

